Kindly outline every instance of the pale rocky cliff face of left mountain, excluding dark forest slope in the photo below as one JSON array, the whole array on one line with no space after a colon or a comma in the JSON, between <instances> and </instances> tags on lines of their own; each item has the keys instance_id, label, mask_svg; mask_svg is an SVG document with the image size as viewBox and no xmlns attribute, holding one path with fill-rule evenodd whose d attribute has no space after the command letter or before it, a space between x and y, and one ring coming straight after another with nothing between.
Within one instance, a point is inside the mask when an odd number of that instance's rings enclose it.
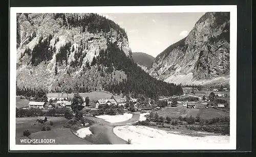
<instances>
[{"instance_id":1,"label":"pale rocky cliff face of left mountain, excluding dark forest slope","mask_svg":"<svg viewBox=\"0 0 256 157\"><path fill-rule=\"evenodd\" d=\"M124 30L102 16L17 14L17 86L56 89L60 83L71 86L74 80L84 77L97 87L108 76L101 78L95 72L97 67L89 65L101 49L107 48L107 41L132 57ZM116 73L118 79L125 78L123 72Z\"/></svg>"}]
</instances>

